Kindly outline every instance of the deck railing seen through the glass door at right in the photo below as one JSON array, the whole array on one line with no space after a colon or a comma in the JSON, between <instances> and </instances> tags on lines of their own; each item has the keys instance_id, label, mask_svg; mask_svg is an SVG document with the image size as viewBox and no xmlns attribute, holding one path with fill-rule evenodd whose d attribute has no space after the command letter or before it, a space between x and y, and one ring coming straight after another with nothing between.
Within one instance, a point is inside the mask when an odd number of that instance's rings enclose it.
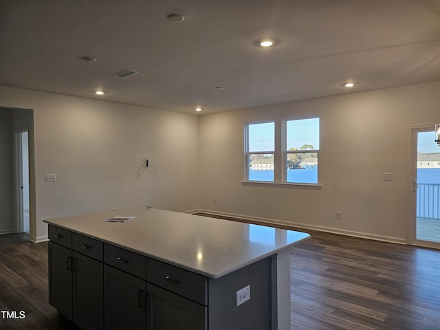
<instances>
[{"instance_id":1,"label":"deck railing seen through the glass door at right","mask_svg":"<svg viewBox=\"0 0 440 330\"><path fill-rule=\"evenodd\" d=\"M440 184L418 184L417 217L440 219Z\"/></svg>"}]
</instances>

